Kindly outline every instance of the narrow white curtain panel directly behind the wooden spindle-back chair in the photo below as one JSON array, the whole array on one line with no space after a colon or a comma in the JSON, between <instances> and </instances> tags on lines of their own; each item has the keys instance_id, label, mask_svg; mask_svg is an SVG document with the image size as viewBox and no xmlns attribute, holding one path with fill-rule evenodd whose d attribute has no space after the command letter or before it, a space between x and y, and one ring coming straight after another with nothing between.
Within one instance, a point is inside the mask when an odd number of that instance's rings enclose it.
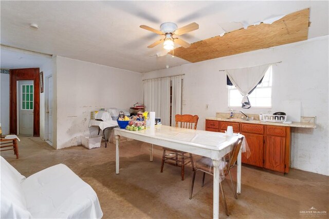
<instances>
[{"instance_id":1,"label":"narrow white curtain panel directly behind the wooden spindle-back chair","mask_svg":"<svg viewBox=\"0 0 329 219\"><path fill-rule=\"evenodd\" d=\"M172 77L171 126L175 126L175 115L181 114L182 76Z\"/></svg>"}]
</instances>

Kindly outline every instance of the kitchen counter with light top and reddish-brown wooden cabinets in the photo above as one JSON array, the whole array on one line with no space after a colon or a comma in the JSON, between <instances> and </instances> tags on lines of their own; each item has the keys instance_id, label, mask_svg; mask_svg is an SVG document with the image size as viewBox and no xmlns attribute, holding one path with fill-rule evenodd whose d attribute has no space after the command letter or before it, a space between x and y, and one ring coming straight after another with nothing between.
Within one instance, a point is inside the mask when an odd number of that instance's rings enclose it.
<instances>
[{"instance_id":1,"label":"kitchen counter with light top and reddish-brown wooden cabinets","mask_svg":"<svg viewBox=\"0 0 329 219\"><path fill-rule=\"evenodd\" d=\"M252 118L250 120L246 120ZM289 118L289 117L288 117ZM291 127L315 129L316 117L301 117L301 122L290 124L283 122L265 122L257 114L216 113L216 117L207 117L205 130L226 132L231 126L234 133L245 136L250 148L250 156L242 155L242 163L280 173L289 173Z\"/></svg>"}]
</instances>

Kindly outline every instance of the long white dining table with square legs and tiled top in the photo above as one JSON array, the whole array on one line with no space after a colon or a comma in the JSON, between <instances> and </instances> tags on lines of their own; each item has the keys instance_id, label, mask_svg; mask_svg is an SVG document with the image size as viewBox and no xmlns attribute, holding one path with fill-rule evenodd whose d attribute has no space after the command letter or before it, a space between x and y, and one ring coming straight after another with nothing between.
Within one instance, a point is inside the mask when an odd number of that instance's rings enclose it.
<instances>
[{"instance_id":1,"label":"long white dining table with square legs and tiled top","mask_svg":"<svg viewBox=\"0 0 329 219\"><path fill-rule=\"evenodd\" d=\"M188 153L210 157L213 163L213 218L220 215L220 161L229 153L233 143L242 135L226 136L225 133L203 130L182 129L160 125L154 129L128 131L115 128L116 138L116 173L119 174L119 142L120 136L150 143L150 161L153 161L153 144L185 151ZM237 157L236 192L241 193L241 150Z\"/></svg>"}]
</instances>

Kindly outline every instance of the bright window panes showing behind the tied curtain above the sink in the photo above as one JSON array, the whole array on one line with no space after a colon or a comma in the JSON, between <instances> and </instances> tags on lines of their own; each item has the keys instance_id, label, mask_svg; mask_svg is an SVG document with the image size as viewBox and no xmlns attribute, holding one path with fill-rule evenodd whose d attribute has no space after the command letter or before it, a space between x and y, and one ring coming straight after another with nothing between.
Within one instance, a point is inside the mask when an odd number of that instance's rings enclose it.
<instances>
[{"instance_id":1,"label":"bright window panes showing behind the tied curtain above the sink","mask_svg":"<svg viewBox=\"0 0 329 219\"><path fill-rule=\"evenodd\" d=\"M248 95L252 107L272 106L272 66L269 66L261 84ZM241 107L242 95L235 86L228 86L228 106Z\"/></svg>"}]
</instances>

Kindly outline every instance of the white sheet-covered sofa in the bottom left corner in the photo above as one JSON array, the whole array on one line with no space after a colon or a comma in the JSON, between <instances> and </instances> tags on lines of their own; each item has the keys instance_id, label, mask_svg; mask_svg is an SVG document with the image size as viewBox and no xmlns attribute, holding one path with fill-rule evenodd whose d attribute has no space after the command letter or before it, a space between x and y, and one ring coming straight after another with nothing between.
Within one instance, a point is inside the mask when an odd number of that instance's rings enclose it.
<instances>
[{"instance_id":1,"label":"white sheet-covered sofa in the bottom left corner","mask_svg":"<svg viewBox=\"0 0 329 219\"><path fill-rule=\"evenodd\" d=\"M26 178L1 157L1 218L101 218L98 197L67 166Z\"/></svg>"}]
</instances>

